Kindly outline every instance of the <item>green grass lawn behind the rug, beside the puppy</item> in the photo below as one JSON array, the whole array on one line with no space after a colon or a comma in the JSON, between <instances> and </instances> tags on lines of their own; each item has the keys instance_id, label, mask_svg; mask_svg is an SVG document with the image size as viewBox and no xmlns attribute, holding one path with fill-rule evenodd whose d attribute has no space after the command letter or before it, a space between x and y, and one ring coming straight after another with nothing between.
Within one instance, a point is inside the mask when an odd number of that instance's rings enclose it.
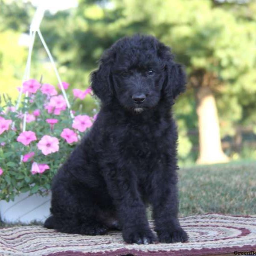
<instances>
[{"instance_id":1,"label":"green grass lawn behind the rug, beside the puppy","mask_svg":"<svg viewBox=\"0 0 256 256\"><path fill-rule=\"evenodd\" d=\"M256 215L256 161L193 166L178 172L180 216L207 212ZM0 222L0 227L13 225L19 224Z\"/></svg>"}]
</instances>

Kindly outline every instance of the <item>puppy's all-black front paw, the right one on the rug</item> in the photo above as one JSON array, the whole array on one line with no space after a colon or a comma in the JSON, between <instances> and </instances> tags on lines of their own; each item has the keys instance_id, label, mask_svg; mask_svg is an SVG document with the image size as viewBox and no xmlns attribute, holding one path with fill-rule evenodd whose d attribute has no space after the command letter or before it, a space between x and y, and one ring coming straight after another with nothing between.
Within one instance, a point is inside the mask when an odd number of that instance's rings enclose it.
<instances>
[{"instance_id":1,"label":"puppy's all-black front paw, the right one on the rug","mask_svg":"<svg viewBox=\"0 0 256 256\"><path fill-rule=\"evenodd\" d=\"M181 227L170 230L159 230L157 234L161 243L178 243L185 242L189 239L189 236Z\"/></svg>"}]
</instances>

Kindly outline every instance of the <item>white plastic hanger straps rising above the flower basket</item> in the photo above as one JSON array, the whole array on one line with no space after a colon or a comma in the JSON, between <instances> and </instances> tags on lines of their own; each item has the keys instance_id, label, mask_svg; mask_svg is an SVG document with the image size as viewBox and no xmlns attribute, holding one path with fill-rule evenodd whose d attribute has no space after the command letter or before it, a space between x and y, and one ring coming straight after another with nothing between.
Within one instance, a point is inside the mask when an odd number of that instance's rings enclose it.
<instances>
[{"instance_id":1,"label":"white plastic hanger straps rising above the flower basket","mask_svg":"<svg viewBox=\"0 0 256 256\"><path fill-rule=\"evenodd\" d=\"M44 46L44 49L46 50L47 52L47 55L51 61L51 64L52 64L52 67L54 69L54 72L57 76L57 79L58 79L58 83L61 87L61 92L64 96L64 99L65 99L65 102L67 104L67 108L70 110L70 116L71 118L73 119L74 118L74 115L70 109L70 102L67 98L67 94L66 94L66 91L63 87L63 84L62 84L62 81L61 81L61 78L59 76L59 73L58 73L58 70L56 68L56 65L55 65L55 62L54 62L54 59L52 57L52 54L51 52L49 51L49 48L47 47L47 44L46 42L44 41L44 38L43 38L43 35L40 31L40 24L41 24L41 21L44 17L44 12L45 12L45 7L42 6L38 6L36 12L35 12L35 15L33 17L33 20L32 20L32 23L30 25L30 29L29 29L29 38L30 38L30 44L29 44L29 54L28 54L28 58L27 58L27 62L26 62L26 68L25 68L25 73L24 73L24 76L23 76L23 81L22 81L22 86L20 88L20 93L19 93L19 96L18 96L18 99L17 99L17 104L15 106L15 109L17 110L19 108L19 105L20 105L20 101L21 101L21 96L22 96L22 92L23 92L23 82L28 80L29 79L29 76L30 76L30 67L31 67L31 57L32 57L32 49L33 49L33 46L34 46L34 42L35 42L35 35L36 35L36 32L38 33L38 36ZM28 92L26 92L25 94L25 97L27 98L28 97ZM25 104L27 103L27 100L28 99L25 99ZM23 116L23 131L26 131L26 115L27 113L24 114Z\"/></svg>"}]
</instances>

